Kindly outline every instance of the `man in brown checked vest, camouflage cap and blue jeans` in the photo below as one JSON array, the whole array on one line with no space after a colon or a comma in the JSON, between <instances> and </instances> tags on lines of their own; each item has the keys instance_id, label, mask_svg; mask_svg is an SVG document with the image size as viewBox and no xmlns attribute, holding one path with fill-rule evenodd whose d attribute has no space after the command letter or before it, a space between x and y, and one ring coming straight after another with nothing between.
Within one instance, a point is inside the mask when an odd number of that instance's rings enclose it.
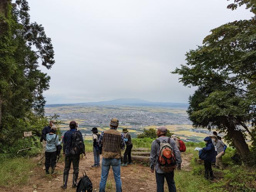
<instances>
[{"instance_id":1,"label":"man in brown checked vest, camouflage cap and blue jeans","mask_svg":"<svg viewBox=\"0 0 256 192\"><path fill-rule=\"evenodd\" d=\"M99 137L99 144L102 144L102 168L99 192L105 191L110 166L114 173L116 192L122 191L121 182L121 149L125 148L123 133L116 131L118 119L113 118L110 122L110 129L103 131Z\"/></svg>"}]
</instances>

